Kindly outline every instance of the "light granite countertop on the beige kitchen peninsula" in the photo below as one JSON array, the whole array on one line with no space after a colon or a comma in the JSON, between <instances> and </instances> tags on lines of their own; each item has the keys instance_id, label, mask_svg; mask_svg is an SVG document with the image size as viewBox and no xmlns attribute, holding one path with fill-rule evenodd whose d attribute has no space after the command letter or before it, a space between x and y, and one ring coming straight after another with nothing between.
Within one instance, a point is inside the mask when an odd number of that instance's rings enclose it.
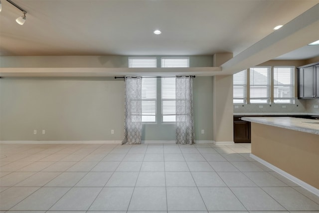
<instances>
[{"instance_id":1,"label":"light granite countertop on the beige kitchen peninsula","mask_svg":"<svg viewBox=\"0 0 319 213\"><path fill-rule=\"evenodd\" d=\"M319 135L319 120L291 117L243 117L241 119L244 121Z\"/></svg>"}]
</instances>

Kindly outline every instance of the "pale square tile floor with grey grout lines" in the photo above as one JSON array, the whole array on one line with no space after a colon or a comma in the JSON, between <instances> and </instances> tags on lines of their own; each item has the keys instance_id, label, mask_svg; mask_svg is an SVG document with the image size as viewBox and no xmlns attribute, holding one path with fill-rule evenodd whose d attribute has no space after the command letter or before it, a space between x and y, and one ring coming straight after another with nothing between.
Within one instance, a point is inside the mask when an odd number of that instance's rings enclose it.
<instances>
[{"instance_id":1,"label":"pale square tile floor with grey grout lines","mask_svg":"<svg viewBox=\"0 0 319 213\"><path fill-rule=\"evenodd\" d=\"M0 213L319 213L250 144L1 144Z\"/></svg>"}]
</instances>

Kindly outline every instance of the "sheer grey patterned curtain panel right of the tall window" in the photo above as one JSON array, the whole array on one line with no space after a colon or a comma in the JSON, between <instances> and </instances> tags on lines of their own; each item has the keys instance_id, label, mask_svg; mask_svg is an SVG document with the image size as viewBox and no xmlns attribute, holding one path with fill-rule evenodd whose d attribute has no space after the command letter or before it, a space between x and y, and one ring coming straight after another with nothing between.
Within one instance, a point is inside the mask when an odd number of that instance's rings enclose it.
<instances>
[{"instance_id":1,"label":"sheer grey patterned curtain panel right of the tall window","mask_svg":"<svg viewBox=\"0 0 319 213\"><path fill-rule=\"evenodd\" d=\"M176 144L194 143L192 77L176 77Z\"/></svg>"}]
</instances>

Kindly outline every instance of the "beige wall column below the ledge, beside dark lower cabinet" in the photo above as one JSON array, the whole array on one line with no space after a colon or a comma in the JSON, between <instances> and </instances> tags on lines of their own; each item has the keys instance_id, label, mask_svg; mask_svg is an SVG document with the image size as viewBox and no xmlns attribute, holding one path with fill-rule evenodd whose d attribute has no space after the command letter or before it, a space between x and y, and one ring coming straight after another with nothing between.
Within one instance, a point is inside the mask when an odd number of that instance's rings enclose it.
<instances>
[{"instance_id":1,"label":"beige wall column below the ledge, beside dark lower cabinet","mask_svg":"<svg viewBox=\"0 0 319 213\"><path fill-rule=\"evenodd\" d=\"M213 136L216 143L234 142L233 75L214 76Z\"/></svg>"}]
</instances>

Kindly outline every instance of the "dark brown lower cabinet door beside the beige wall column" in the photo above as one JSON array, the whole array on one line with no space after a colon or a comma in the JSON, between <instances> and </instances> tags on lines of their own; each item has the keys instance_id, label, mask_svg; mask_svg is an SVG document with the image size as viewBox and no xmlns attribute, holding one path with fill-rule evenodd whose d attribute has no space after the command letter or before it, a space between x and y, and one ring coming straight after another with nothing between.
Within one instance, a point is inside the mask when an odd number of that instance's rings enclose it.
<instances>
[{"instance_id":1,"label":"dark brown lower cabinet door beside the beige wall column","mask_svg":"<svg viewBox=\"0 0 319 213\"><path fill-rule=\"evenodd\" d=\"M250 122L236 121L234 122L234 142L250 143Z\"/></svg>"}]
</instances>

